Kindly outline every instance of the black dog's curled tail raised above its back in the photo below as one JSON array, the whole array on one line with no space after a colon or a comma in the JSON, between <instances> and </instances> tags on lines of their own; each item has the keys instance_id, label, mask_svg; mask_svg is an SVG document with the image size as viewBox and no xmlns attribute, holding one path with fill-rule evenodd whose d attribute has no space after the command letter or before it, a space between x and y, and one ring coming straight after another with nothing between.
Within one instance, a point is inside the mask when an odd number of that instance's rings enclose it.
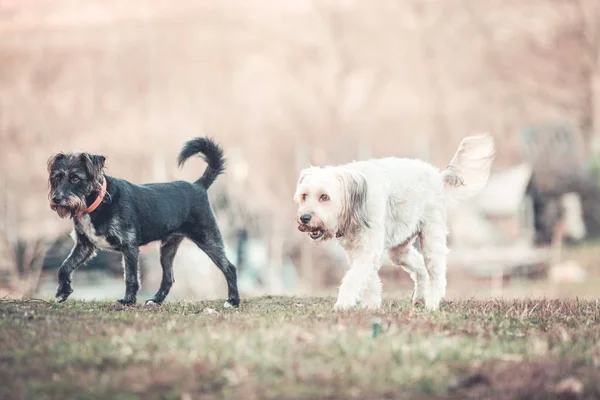
<instances>
[{"instance_id":1,"label":"black dog's curled tail raised above its back","mask_svg":"<svg viewBox=\"0 0 600 400\"><path fill-rule=\"evenodd\" d=\"M188 140L184 145L179 158L178 165L181 167L188 158L200 154L206 161L208 167L204 174L198 179L196 184L204 186L206 189L212 185L217 177L225 171L225 155L223 149L219 147L214 140L207 137L198 137Z\"/></svg>"}]
</instances>

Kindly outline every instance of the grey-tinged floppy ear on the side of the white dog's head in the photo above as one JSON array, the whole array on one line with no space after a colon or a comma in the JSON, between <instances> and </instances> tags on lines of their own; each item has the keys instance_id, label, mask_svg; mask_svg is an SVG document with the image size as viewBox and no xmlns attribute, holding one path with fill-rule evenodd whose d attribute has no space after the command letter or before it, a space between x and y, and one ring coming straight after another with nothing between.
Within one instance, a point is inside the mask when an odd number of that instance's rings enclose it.
<instances>
[{"instance_id":1,"label":"grey-tinged floppy ear on the side of the white dog's head","mask_svg":"<svg viewBox=\"0 0 600 400\"><path fill-rule=\"evenodd\" d=\"M338 174L342 190L340 230L349 232L369 228L367 212L367 180L359 172L342 169Z\"/></svg>"}]
</instances>

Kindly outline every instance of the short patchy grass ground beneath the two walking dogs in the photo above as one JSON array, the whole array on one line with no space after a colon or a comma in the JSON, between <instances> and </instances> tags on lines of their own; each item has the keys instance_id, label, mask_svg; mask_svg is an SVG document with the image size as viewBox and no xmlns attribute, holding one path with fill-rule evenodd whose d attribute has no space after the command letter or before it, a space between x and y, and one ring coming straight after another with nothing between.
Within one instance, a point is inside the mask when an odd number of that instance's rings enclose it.
<instances>
[{"instance_id":1,"label":"short patchy grass ground beneath the two walking dogs","mask_svg":"<svg viewBox=\"0 0 600 400\"><path fill-rule=\"evenodd\" d=\"M597 301L0 301L0 398L600 398Z\"/></svg>"}]
</instances>

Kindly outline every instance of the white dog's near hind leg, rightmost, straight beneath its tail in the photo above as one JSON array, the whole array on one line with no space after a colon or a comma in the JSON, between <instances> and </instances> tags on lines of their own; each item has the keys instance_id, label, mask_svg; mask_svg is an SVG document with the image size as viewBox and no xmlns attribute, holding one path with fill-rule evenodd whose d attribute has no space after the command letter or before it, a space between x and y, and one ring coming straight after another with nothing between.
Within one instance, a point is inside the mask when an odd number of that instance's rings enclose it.
<instances>
[{"instance_id":1,"label":"white dog's near hind leg, rightmost, straight beneath its tail","mask_svg":"<svg viewBox=\"0 0 600 400\"><path fill-rule=\"evenodd\" d=\"M421 249L430 282L429 295L425 297L425 307L429 310L437 309L446 295L446 235L445 219L429 221L421 232Z\"/></svg>"}]
</instances>

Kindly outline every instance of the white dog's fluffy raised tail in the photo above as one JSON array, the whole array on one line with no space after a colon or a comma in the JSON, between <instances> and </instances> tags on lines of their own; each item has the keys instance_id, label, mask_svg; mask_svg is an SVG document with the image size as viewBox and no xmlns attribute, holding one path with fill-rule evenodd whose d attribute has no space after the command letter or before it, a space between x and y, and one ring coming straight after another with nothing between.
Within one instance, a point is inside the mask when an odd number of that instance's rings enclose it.
<instances>
[{"instance_id":1,"label":"white dog's fluffy raised tail","mask_svg":"<svg viewBox=\"0 0 600 400\"><path fill-rule=\"evenodd\" d=\"M446 197L460 201L475 196L487 183L496 154L494 138L488 134L467 136L442 172Z\"/></svg>"}]
</instances>

